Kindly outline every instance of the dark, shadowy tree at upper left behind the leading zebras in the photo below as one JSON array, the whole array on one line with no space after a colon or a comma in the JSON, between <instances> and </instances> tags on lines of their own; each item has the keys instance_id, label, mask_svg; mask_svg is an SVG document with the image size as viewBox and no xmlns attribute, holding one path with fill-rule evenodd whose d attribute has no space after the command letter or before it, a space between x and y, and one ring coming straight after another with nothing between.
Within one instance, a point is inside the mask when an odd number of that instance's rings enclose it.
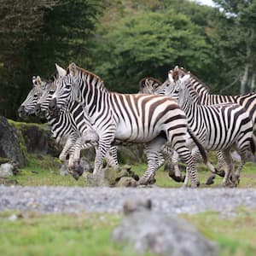
<instances>
[{"instance_id":1,"label":"dark, shadowy tree at upper left behind the leading zebras","mask_svg":"<svg viewBox=\"0 0 256 256\"><path fill-rule=\"evenodd\" d=\"M90 66L101 4L96 0L0 1L0 113L15 119L16 109L31 89L32 75L48 78L55 62L64 67L71 61Z\"/></svg>"}]
</instances>

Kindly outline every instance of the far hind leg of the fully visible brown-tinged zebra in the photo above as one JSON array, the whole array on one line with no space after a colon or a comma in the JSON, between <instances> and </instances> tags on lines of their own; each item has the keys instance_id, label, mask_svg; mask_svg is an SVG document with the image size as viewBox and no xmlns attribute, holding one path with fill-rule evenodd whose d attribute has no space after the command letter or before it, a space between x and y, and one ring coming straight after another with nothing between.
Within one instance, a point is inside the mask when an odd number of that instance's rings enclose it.
<instances>
[{"instance_id":1,"label":"far hind leg of the fully visible brown-tinged zebra","mask_svg":"<svg viewBox=\"0 0 256 256\"><path fill-rule=\"evenodd\" d=\"M140 185L148 185L154 178L155 172L163 165L162 147L166 143L166 139L162 137L156 137L150 143L145 145L145 152L148 160L147 171L137 182Z\"/></svg>"}]
</instances>

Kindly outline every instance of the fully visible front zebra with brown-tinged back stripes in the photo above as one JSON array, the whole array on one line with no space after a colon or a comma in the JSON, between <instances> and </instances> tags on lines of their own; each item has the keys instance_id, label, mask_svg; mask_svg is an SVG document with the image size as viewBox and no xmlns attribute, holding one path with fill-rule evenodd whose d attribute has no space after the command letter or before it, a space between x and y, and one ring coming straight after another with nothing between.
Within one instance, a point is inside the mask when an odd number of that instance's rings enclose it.
<instances>
[{"instance_id":1,"label":"fully visible front zebra with brown-tinged back stripes","mask_svg":"<svg viewBox=\"0 0 256 256\"><path fill-rule=\"evenodd\" d=\"M58 113L68 102L73 101L83 106L84 113L99 137L93 172L96 180L102 176L102 158L117 139L145 145L148 168L139 179L139 184L148 184L154 177L162 165L159 161L161 148L169 143L187 164L184 185L188 185L189 177L192 187L198 185L195 163L186 144L189 138L200 148L205 162L207 154L190 131L183 110L170 97L110 92L94 73L71 63L66 76L57 81L49 109Z\"/></svg>"}]
</instances>

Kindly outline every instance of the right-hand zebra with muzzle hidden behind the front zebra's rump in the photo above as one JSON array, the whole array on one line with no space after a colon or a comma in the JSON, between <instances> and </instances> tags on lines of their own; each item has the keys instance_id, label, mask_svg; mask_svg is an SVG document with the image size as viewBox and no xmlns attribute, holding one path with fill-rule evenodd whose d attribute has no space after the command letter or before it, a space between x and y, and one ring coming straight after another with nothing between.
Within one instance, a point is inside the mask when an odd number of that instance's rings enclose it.
<instances>
[{"instance_id":1,"label":"right-hand zebra with muzzle hidden behind the front zebra's rump","mask_svg":"<svg viewBox=\"0 0 256 256\"><path fill-rule=\"evenodd\" d=\"M237 185L247 150L254 153L253 122L249 113L236 103L201 105L201 97L195 91L190 74L183 78L178 73L169 73L170 85L166 86L166 95L177 96L177 102L187 114L189 125L207 150L221 150L227 164L224 185L232 185L233 163L230 148L236 148L241 163L235 173Z\"/></svg>"}]
</instances>

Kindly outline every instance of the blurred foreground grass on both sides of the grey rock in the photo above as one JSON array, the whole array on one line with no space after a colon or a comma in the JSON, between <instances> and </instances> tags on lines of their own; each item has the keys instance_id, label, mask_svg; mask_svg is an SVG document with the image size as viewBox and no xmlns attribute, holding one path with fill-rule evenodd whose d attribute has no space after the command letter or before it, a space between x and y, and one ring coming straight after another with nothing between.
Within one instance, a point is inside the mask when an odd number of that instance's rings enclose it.
<instances>
[{"instance_id":1,"label":"blurred foreground grass on both sides of the grey rock","mask_svg":"<svg viewBox=\"0 0 256 256\"><path fill-rule=\"evenodd\" d=\"M14 214L18 218L11 220ZM208 239L216 241L220 256L254 256L256 212L238 209L237 214L235 218L223 218L217 212L204 212L182 218L195 224ZM110 239L121 218L107 213L3 212L0 213L0 255L137 255L131 247Z\"/></svg>"}]
</instances>

